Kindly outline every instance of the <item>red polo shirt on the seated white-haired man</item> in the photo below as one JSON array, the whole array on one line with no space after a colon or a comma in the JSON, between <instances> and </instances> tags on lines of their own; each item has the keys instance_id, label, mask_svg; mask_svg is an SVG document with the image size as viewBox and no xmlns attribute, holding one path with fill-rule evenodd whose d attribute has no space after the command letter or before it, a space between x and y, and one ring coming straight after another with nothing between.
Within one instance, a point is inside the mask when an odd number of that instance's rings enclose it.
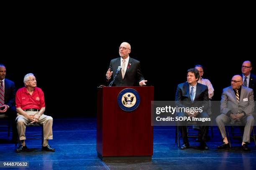
<instances>
[{"instance_id":1,"label":"red polo shirt on the seated white-haired man","mask_svg":"<svg viewBox=\"0 0 256 170\"><path fill-rule=\"evenodd\" d=\"M32 95L29 94L26 87L20 88L16 92L16 108L20 107L22 110L25 109L38 109L45 107L44 103L44 92L41 88L36 87Z\"/></svg>"}]
</instances>

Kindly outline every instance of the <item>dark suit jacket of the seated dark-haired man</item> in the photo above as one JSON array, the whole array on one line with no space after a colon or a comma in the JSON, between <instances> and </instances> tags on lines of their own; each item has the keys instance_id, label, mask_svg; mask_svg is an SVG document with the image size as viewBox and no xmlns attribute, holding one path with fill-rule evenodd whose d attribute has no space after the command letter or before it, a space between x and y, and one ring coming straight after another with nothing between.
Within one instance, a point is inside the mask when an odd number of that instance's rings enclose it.
<instances>
[{"instance_id":1,"label":"dark suit jacket of the seated dark-haired man","mask_svg":"<svg viewBox=\"0 0 256 170\"><path fill-rule=\"evenodd\" d=\"M203 107L203 111L207 111L209 107L208 87L197 83L197 89L194 102L191 101L189 93L189 83L179 84L175 95L175 104L178 107Z\"/></svg>"}]
</instances>

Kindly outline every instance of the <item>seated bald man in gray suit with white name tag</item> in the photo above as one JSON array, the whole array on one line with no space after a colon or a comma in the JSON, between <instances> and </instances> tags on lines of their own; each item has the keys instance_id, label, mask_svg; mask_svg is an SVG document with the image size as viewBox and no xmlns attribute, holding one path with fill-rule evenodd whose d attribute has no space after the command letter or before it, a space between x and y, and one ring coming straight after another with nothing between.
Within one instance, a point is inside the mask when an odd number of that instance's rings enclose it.
<instances>
[{"instance_id":1,"label":"seated bald man in gray suit with white name tag","mask_svg":"<svg viewBox=\"0 0 256 170\"><path fill-rule=\"evenodd\" d=\"M254 118L252 116L254 111L253 90L242 85L242 77L240 75L234 75L231 80L231 86L223 89L220 101L221 115L216 118L223 138L223 144L218 146L218 149L228 147L225 123L231 123L234 125L245 125L242 148L244 151L250 150L247 143L250 142L250 134L254 124Z\"/></svg>"}]
</instances>

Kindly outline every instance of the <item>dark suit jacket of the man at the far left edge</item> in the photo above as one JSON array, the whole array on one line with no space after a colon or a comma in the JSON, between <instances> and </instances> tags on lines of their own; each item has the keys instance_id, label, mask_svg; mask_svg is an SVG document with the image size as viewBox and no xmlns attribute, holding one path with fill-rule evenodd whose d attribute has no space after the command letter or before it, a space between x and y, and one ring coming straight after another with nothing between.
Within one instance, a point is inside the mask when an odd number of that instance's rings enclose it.
<instances>
[{"instance_id":1,"label":"dark suit jacket of the man at the far left edge","mask_svg":"<svg viewBox=\"0 0 256 170\"><path fill-rule=\"evenodd\" d=\"M15 106L15 93L14 82L5 78L5 105Z\"/></svg>"}]
</instances>

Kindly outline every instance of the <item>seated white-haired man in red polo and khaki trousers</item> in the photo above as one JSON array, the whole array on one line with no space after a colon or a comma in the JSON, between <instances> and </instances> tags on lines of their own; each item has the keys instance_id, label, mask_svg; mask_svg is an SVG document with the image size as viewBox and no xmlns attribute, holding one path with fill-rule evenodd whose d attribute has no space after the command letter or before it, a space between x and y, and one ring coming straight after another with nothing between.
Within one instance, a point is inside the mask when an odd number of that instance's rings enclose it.
<instances>
[{"instance_id":1,"label":"seated white-haired man in red polo and khaki trousers","mask_svg":"<svg viewBox=\"0 0 256 170\"><path fill-rule=\"evenodd\" d=\"M37 122L44 125L44 143L42 150L54 152L54 148L48 144L52 140L52 122L51 116L44 115L45 103L44 92L41 88L36 87L36 77L29 73L23 80L25 87L16 92L16 109L17 109L17 130L21 144L16 152L26 151L25 131L28 123Z\"/></svg>"}]
</instances>

